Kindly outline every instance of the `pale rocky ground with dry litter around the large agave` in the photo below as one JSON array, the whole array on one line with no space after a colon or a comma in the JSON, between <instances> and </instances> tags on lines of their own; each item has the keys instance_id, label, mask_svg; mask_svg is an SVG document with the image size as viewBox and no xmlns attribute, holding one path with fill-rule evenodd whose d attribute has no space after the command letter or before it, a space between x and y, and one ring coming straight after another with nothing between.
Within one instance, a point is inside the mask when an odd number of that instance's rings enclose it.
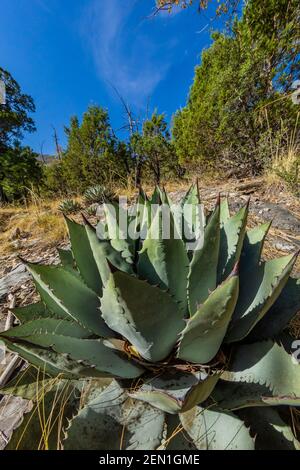
<instances>
[{"instance_id":1,"label":"pale rocky ground with dry litter around the large agave","mask_svg":"<svg viewBox=\"0 0 300 470\"><path fill-rule=\"evenodd\" d=\"M266 240L263 255L274 257L295 252L300 249L300 201L281 187L267 187L261 178L212 182L200 189L202 201L208 208L213 207L217 195L228 195L232 211L237 210L250 197L249 224L272 220L272 228ZM176 200L184 194L184 189L171 191ZM0 227L1 231L1 227ZM21 258L47 264L56 263L58 255L54 246L47 246L43 240L32 240L30 234L24 236L16 227L17 252L4 254L0 257L0 330L4 330L14 321L9 314L13 306L22 306L37 300L33 283L26 272ZM61 247L67 246L63 241ZM300 262L295 267L295 275L300 275ZM300 324L300 322L299 322ZM298 326L296 326L298 328ZM300 326L299 326L300 337ZM297 331L296 331L297 335ZM12 355L1 361L0 351L0 385L7 364L13 360ZM1 362L3 364L1 365ZM1 397L0 397L1 398ZM29 404L20 399L2 399L0 402L0 449L3 448L9 435L22 419Z\"/></svg>"}]
</instances>

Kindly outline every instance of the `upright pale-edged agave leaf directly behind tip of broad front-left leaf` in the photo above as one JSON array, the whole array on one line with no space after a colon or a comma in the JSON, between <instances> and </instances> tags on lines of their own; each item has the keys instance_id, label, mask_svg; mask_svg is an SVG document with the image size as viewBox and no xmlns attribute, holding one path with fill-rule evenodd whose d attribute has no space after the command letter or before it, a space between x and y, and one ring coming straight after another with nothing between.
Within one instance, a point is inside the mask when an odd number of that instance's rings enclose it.
<instances>
[{"instance_id":1,"label":"upright pale-edged agave leaf directly behind tip of broad front-left leaf","mask_svg":"<svg viewBox=\"0 0 300 470\"><path fill-rule=\"evenodd\" d=\"M97 237L96 230L89 224L85 225L85 229L103 285L106 284L110 274L107 260L121 271L133 272L132 265L122 258L121 254L112 247L109 240L100 240Z\"/></svg>"}]
</instances>

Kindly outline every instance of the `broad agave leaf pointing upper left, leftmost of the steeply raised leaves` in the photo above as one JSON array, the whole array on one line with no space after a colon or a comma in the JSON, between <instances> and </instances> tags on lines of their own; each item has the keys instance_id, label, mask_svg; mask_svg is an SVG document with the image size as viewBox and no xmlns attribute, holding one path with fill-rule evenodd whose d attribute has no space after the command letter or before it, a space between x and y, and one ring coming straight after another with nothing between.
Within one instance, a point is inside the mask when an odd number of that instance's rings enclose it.
<instances>
[{"instance_id":1,"label":"broad agave leaf pointing upper left, leftmost of the steeply raised leaves","mask_svg":"<svg viewBox=\"0 0 300 470\"><path fill-rule=\"evenodd\" d=\"M58 314L65 312L66 317L99 336L110 336L110 330L101 318L98 296L77 276L57 266L28 264L28 269L51 299L51 310L55 308L54 312ZM43 300L47 302L47 299Z\"/></svg>"}]
</instances>

